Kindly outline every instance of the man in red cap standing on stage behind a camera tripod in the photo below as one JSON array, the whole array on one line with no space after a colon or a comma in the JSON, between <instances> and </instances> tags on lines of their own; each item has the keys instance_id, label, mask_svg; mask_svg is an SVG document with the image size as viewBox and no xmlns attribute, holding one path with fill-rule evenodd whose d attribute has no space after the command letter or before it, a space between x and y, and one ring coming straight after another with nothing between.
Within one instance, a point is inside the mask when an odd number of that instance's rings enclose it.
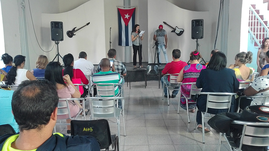
<instances>
[{"instance_id":1,"label":"man in red cap standing on stage behind a camera tripod","mask_svg":"<svg viewBox=\"0 0 269 151\"><path fill-rule=\"evenodd\" d=\"M166 63L168 63L168 57L167 57L167 53L166 53L167 34L166 34L166 31L163 29L163 25L159 25L159 29L154 32L153 40L158 41L158 43L159 43L159 45L158 45L158 48L159 48L159 60L160 60L159 66L162 65L160 49L163 50L165 61L166 61ZM164 40L165 40L165 43L164 43Z\"/></svg>"}]
</instances>

